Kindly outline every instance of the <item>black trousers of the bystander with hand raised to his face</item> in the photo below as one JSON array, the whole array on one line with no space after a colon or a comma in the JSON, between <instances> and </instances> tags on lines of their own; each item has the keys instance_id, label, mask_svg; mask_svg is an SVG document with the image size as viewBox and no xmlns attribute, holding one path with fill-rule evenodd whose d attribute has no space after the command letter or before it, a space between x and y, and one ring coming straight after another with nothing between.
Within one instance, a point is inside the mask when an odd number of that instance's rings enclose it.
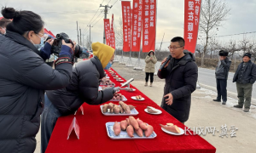
<instances>
[{"instance_id":1,"label":"black trousers of the bystander with hand raised to his face","mask_svg":"<svg viewBox=\"0 0 256 153\"><path fill-rule=\"evenodd\" d=\"M227 80L226 79L216 79L217 83L217 99L222 98L223 101L227 101Z\"/></svg>"}]
</instances>

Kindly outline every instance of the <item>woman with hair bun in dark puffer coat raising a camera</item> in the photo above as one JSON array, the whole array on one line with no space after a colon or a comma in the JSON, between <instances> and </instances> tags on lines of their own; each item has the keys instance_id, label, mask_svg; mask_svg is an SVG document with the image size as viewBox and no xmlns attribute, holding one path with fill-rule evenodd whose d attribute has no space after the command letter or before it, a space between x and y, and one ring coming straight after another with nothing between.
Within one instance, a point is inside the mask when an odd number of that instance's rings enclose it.
<instances>
[{"instance_id":1,"label":"woman with hair bun in dark puffer coat raising a camera","mask_svg":"<svg viewBox=\"0 0 256 153\"><path fill-rule=\"evenodd\" d=\"M14 8L3 8L2 14L13 21L6 27L6 35L0 37L0 152L32 153L44 108L44 91L68 85L73 45L63 42L61 60L56 60L54 70L33 45L44 36L41 17Z\"/></svg>"}]
</instances>

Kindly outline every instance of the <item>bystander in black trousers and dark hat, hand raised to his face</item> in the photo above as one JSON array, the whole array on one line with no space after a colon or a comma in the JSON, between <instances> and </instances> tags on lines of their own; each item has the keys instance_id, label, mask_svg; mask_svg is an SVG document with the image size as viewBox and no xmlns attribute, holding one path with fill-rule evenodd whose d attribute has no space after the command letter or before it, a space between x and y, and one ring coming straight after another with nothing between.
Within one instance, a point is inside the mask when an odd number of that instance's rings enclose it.
<instances>
[{"instance_id":1,"label":"bystander in black trousers and dark hat, hand raised to his face","mask_svg":"<svg viewBox=\"0 0 256 153\"><path fill-rule=\"evenodd\" d=\"M231 61L229 58L227 58L227 56L229 55L229 52L227 51L221 50L219 51L218 55L220 60L218 61L218 65L216 66L215 70L218 96L217 99L213 99L213 101L220 102L220 99L222 97L222 104L226 105L227 80L229 76Z\"/></svg>"}]
</instances>

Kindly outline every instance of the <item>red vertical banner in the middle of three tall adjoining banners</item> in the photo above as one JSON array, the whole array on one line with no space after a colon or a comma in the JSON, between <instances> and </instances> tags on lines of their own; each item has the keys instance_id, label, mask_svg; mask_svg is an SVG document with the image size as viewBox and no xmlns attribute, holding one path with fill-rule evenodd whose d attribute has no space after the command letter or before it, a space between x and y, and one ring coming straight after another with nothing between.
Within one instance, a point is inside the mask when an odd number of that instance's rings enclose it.
<instances>
[{"instance_id":1,"label":"red vertical banner in the middle of three tall adjoining banners","mask_svg":"<svg viewBox=\"0 0 256 153\"><path fill-rule=\"evenodd\" d=\"M141 48L142 36L142 19L143 19L143 0L133 0L133 22L132 22L132 37L131 51L139 52Z\"/></svg>"}]
</instances>

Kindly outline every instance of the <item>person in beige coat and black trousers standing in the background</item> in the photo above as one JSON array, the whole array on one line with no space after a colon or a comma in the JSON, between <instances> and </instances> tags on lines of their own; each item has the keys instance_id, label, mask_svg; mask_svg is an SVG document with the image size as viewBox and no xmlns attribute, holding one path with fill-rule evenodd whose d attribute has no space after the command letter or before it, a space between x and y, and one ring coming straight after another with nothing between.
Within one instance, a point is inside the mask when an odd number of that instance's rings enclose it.
<instances>
[{"instance_id":1,"label":"person in beige coat and black trousers standing in the background","mask_svg":"<svg viewBox=\"0 0 256 153\"><path fill-rule=\"evenodd\" d=\"M157 59L154 55L153 50L149 51L148 55L146 56L145 62L146 62L146 66L145 66L145 73L146 73L145 86L148 86L148 77L150 76L150 87L152 87L153 81L154 81L154 65L157 62Z\"/></svg>"}]
</instances>

